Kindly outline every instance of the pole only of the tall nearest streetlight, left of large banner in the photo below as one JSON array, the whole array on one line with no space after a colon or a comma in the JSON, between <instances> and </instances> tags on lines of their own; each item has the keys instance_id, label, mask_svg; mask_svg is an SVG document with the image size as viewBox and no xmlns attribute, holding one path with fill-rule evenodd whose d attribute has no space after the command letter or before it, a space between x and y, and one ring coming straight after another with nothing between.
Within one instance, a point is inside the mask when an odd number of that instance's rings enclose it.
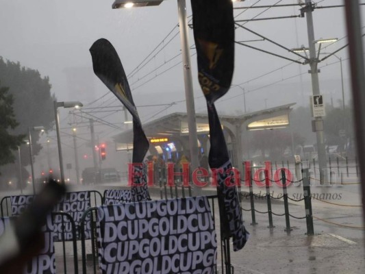
<instances>
[{"instance_id":1,"label":"pole only of the tall nearest streetlight, left of large banner","mask_svg":"<svg viewBox=\"0 0 365 274\"><path fill-rule=\"evenodd\" d=\"M194 93L192 90L192 73L190 64L190 46L188 42L188 22L186 20L186 0L177 0L177 10L179 14L179 29L181 40L182 62L184 68L184 84L186 97L186 112L188 115L189 128L189 149L190 163L194 171L199 167L198 162L198 136L197 123L195 121ZM194 195L201 195L201 188L194 188Z\"/></svg>"}]
</instances>

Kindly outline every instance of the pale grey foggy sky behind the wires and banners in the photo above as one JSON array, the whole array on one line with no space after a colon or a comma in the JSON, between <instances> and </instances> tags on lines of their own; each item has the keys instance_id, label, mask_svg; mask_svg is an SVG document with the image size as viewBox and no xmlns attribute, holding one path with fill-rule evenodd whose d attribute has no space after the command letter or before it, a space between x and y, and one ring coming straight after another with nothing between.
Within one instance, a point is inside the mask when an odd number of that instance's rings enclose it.
<instances>
[{"instance_id":1,"label":"pale grey foggy sky behind the wires and banners","mask_svg":"<svg viewBox=\"0 0 365 274\"><path fill-rule=\"evenodd\" d=\"M113 0L0 0L0 56L5 60L20 62L22 66L36 69L42 76L49 76L58 101L79 100L88 103L108 93L108 89L94 75L89 49L95 40L106 38L112 42L121 58L124 69L129 75L149 53L160 43L166 45L151 62L129 78L136 105L152 105L182 101L171 108L165 106L138 108L142 122L151 121L151 116L162 111L153 119L171 112L185 112L184 79L178 35L177 1L166 0L161 5L149 8L112 10ZM234 7L248 6L257 0L234 3ZM342 4L340 0L318 1L319 6ZM274 3L297 3L297 0L262 0L256 5ZM187 1L187 14L191 19L190 1ZM236 20L291 16L299 14L299 7L235 10ZM243 13L242 13L243 12ZM242 13L242 14L241 14ZM238 16L238 14L240 14ZM188 19L188 20L189 20ZM191 23L191 22L190 22ZM243 23L242 23L243 24ZM305 18L285 18L270 21L254 21L244 25L261 35L284 45L287 48L308 45ZM171 32L171 35L167 36ZM176 34L175 38L173 36ZM323 49L332 52L347 43L344 25L344 9L330 8L314 11L314 34L319 38L342 38L342 40ZM166 37L167 36L167 37ZM166 38L164 40L164 38ZM171 38L173 38L171 40ZM260 39L244 29L236 29L236 41ZM169 42L171 40L171 42ZM164 42L162 42L164 41ZM190 29L190 45L194 45ZM249 45L273 51L288 58L297 59L284 49L267 41L249 42ZM160 47L161 48L161 47ZM191 49L191 54L195 53ZM153 56L153 55L152 55ZM349 66L347 49L338 53L343 60L345 97L350 99ZM197 82L196 55L192 56L192 77L194 79L195 108L206 112L205 99ZM165 65L164 62L166 62ZM312 94L309 65L291 64L275 56L236 45L235 72L232 84L242 84L246 95L247 110L255 111L297 103L309 105ZM175 65L166 71L169 67ZM161 69L151 71L161 66ZM340 64L332 57L318 65L320 67L320 90L333 101L342 98L340 90ZM280 69L281 68L281 69ZM270 73L274 71L273 73ZM144 77L147 73L150 75ZM162 73L160 75L160 73ZM264 77L260 77L268 73ZM299 75L302 73L302 76ZM0 75L1 76L1 75ZM258 78L257 78L258 77ZM141 79L142 78L142 79ZM257 79L255 79L257 78ZM151 81L149 81L152 79ZM143 84L147 82L146 84ZM274 83L274 84L273 84ZM275 84L276 83L276 84ZM112 92L97 103L88 106L121 105ZM242 89L231 90L216 103L218 112L238 114L243 112ZM62 127L67 127L70 119L66 110L60 111ZM101 114L100 114L101 116ZM110 123L123 122L123 112L105 118ZM153 120L152 119L152 120ZM123 125L121 125L123 127ZM97 131L108 138L118 133L110 127L99 127ZM87 132L87 129L85 129Z\"/></svg>"}]
</instances>

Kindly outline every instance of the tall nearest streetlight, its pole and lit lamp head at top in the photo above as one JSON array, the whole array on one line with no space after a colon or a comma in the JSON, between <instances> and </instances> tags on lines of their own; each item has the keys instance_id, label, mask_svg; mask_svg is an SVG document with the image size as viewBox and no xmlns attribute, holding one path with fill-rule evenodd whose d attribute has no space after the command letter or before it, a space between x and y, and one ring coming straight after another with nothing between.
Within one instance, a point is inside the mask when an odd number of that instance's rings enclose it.
<instances>
[{"instance_id":1,"label":"tall nearest streetlight, its pole and lit lamp head at top","mask_svg":"<svg viewBox=\"0 0 365 274\"><path fill-rule=\"evenodd\" d=\"M163 0L115 0L112 8L131 8L142 7L149 5L160 5ZM134 3L132 5L131 3ZM188 22L186 16L186 0L177 0L177 10L179 14L179 29L181 41L181 54L184 68L184 84L185 84L185 98L186 98L186 113L188 116L189 129L189 149L190 149L190 163L192 170L199 167L198 162L198 136L197 123L195 120L194 94L192 90L192 73L190 62L190 49L188 43ZM195 194L200 195L200 188L194 188Z\"/></svg>"}]
</instances>

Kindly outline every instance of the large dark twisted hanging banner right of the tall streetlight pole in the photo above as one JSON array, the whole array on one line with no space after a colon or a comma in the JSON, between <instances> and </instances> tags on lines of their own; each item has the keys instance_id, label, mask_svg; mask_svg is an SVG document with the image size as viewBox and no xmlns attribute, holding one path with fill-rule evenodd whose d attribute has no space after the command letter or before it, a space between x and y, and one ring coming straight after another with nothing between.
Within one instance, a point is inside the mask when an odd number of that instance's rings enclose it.
<instances>
[{"instance_id":1,"label":"large dark twisted hanging banner right of the tall streetlight pole","mask_svg":"<svg viewBox=\"0 0 365 274\"><path fill-rule=\"evenodd\" d=\"M209 165L218 173L217 192L223 238L233 238L234 251L244 247L249 233L233 178L231 161L214 106L229 90L234 73L234 17L231 0L192 0L192 23L197 47L199 84L207 100L210 127Z\"/></svg>"}]
</instances>

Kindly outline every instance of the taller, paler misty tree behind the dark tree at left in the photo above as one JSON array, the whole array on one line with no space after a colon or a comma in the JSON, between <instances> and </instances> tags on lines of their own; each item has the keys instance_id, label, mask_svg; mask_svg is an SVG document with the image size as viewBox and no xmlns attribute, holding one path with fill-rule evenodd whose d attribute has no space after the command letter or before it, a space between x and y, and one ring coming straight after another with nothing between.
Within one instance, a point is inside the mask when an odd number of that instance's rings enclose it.
<instances>
[{"instance_id":1,"label":"taller, paler misty tree behind the dark tree at left","mask_svg":"<svg viewBox=\"0 0 365 274\"><path fill-rule=\"evenodd\" d=\"M38 71L25 68L18 62L4 61L0 56L0 80L3 86L9 87L10 95L14 99L15 119L19 123L18 127L14 129L14 134L26 134L28 127L34 126L43 126L46 131L53 128L55 97L51 95L49 77L41 77ZM38 140L39 135L33 134L34 155L37 155L42 149ZM17 155L14 157L17 158ZM23 166L30 164L27 149L21 149L21 162ZM17 167L3 166L2 177L14 177L16 170L18 170ZM23 176L27 177L27 171L25 169L23 171Z\"/></svg>"}]
</instances>

